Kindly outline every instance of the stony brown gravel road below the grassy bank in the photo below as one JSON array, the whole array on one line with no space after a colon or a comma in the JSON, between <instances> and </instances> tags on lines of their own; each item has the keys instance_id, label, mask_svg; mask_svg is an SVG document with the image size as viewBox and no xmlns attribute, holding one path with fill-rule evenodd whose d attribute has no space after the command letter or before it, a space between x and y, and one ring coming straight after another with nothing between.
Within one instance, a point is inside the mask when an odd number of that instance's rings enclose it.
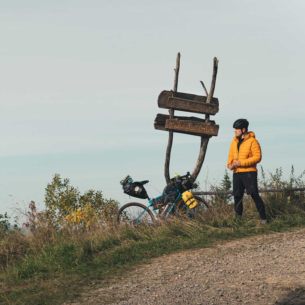
<instances>
[{"instance_id":1,"label":"stony brown gravel road below the grassy bank","mask_svg":"<svg viewBox=\"0 0 305 305\"><path fill-rule=\"evenodd\" d=\"M305 304L304 233L260 235L163 256L89 290L84 303Z\"/></svg>"}]
</instances>

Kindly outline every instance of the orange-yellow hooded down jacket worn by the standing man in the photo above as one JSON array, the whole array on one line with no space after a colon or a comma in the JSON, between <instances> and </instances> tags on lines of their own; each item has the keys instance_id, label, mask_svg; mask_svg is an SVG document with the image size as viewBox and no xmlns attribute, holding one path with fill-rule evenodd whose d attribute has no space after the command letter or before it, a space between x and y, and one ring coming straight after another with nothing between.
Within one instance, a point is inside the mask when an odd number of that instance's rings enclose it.
<instances>
[{"instance_id":1,"label":"orange-yellow hooded down jacket worn by the standing man","mask_svg":"<svg viewBox=\"0 0 305 305\"><path fill-rule=\"evenodd\" d=\"M254 132L248 132L248 135L239 146L239 151L237 150L237 145L238 138L234 137L229 150L227 166L232 160L237 159L242 165L235 167L233 173L257 171L256 164L262 160L262 151L260 149L260 143L258 143L255 138Z\"/></svg>"}]
</instances>

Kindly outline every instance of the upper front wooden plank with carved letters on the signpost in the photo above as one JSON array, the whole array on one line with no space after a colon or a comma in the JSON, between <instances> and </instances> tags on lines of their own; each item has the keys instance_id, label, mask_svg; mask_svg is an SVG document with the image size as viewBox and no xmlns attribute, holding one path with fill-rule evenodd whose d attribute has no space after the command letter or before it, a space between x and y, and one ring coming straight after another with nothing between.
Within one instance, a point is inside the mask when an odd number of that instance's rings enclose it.
<instances>
[{"instance_id":1,"label":"upper front wooden plank with carved letters on the signpost","mask_svg":"<svg viewBox=\"0 0 305 305\"><path fill-rule=\"evenodd\" d=\"M215 115L219 108L214 104L207 104L204 102L195 102L188 99L179 99L177 97L169 97L167 100L166 108L173 108L180 111L188 111L194 113L203 113Z\"/></svg>"}]
</instances>

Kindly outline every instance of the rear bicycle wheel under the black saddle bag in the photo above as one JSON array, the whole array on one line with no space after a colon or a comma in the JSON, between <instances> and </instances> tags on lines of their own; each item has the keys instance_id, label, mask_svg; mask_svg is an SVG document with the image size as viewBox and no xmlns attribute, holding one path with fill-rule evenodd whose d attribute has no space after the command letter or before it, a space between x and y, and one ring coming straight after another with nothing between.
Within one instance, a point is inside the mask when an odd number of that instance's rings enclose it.
<instances>
[{"instance_id":1,"label":"rear bicycle wheel under the black saddle bag","mask_svg":"<svg viewBox=\"0 0 305 305\"><path fill-rule=\"evenodd\" d=\"M147 206L138 202L130 202L125 204L117 212L117 224L152 224L155 221L155 217L153 216L151 210L146 209Z\"/></svg>"}]
</instances>

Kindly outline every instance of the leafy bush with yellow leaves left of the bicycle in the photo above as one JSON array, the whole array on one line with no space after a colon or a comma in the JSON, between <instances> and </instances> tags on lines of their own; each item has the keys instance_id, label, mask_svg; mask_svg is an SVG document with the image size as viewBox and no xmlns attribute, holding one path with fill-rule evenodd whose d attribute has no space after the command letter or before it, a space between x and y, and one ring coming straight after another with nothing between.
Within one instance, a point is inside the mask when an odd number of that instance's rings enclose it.
<instances>
[{"instance_id":1,"label":"leafy bush with yellow leaves left of the bicycle","mask_svg":"<svg viewBox=\"0 0 305 305\"><path fill-rule=\"evenodd\" d=\"M56 226L64 222L75 228L106 225L113 222L119 208L116 200L105 199L101 191L91 189L81 195L69 179L62 180L59 174L54 175L45 191L46 211Z\"/></svg>"}]
</instances>

